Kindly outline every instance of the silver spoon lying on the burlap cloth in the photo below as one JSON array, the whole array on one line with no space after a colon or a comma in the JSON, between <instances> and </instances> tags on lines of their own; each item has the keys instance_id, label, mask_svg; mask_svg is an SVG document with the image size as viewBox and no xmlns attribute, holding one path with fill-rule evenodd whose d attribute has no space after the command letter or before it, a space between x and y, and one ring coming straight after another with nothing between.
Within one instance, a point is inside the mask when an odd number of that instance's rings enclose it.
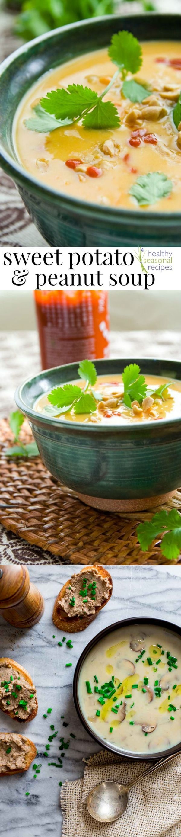
<instances>
[{"instance_id":1,"label":"silver spoon lying on the burlap cloth","mask_svg":"<svg viewBox=\"0 0 181 837\"><path fill-rule=\"evenodd\" d=\"M95 788L90 790L86 800L90 816L96 819L98 823L113 823L115 819L122 817L127 810L128 793L133 788L133 785L142 782L145 776L154 773L154 770L159 770L163 764L171 762L173 758L179 755L180 752L176 754L173 752L171 756L167 756L167 758L163 758L157 764L153 764L152 767L147 768L144 773L137 776L129 785L118 784L118 782L101 782L97 784Z\"/></svg>"}]
</instances>

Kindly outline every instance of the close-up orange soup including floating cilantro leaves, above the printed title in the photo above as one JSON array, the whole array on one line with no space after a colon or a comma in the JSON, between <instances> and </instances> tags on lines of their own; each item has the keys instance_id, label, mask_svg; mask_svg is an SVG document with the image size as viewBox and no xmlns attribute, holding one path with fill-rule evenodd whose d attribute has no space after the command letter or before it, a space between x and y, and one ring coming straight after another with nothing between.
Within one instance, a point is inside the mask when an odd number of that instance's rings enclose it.
<instances>
[{"instance_id":1,"label":"close-up orange soup including floating cilantro leaves, above the printed title","mask_svg":"<svg viewBox=\"0 0 181 837\"><path fill-rule=\"evenodd\" d=\"M133 39L131 33L118 33L111 43L120 35ZM116 69L115 49L82 55L45 74L18 109L17 153L31 175L72 198L105 207L178 212L180 43L147 41L140 50L142 59L133 65L132 76L129 67L128 72ZM83 91L85 105L74 100L74 109L68 105L67 110L69 85L88 89L86 96ZM57 100L55 91L59 96L60 90L63 99ZM73 96L73 88L70 92ZM95 96L99 114L95 111L92 118Z\"/></svg>"}]
</instances>

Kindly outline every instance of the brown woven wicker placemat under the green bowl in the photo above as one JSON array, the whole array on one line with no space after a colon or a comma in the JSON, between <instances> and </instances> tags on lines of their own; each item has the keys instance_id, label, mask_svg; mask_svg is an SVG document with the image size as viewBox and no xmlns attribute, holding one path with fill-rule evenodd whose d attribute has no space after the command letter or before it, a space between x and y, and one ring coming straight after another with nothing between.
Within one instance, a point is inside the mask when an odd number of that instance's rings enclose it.
<instances>
[{"instance_id":1,"label":"brown woven wicker placemat under the green bowl","mask_svg":"<svg viewBox=\"0 0 181 837\"><path fill-rule=\"evenodd\" d=\"M31 441L24 422L20 439ZM13 444L8 420L0 421L0 522L26 542L72 564L166 564L160 547L142 552L137 525L151 513L111 514L84 506L75 493L49 474L40 457L9 459ZM181 510L181 490L164 508ZM161 506L159 506L161 508Z\"/></svg>"}]
</instances>

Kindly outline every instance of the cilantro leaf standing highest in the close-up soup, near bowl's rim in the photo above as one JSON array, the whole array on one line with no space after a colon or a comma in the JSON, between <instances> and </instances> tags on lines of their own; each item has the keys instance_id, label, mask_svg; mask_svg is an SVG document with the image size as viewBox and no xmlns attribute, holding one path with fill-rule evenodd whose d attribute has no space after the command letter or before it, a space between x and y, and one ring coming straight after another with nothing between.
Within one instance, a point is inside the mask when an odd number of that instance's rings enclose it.
<instances>
[{"instance_id":1,"label":"cilantro leaf standing highest in the close-up soup, near bowl's rim","mask_svg":"<svg viewBox=\"0 0 181 837\"><path fill-rule=\"evenodd\" d=\"M113 64L123 69L123 74L127 71L134 75L142 66L142 48L132 32L122 29L122 32L113 35L108 53Z\"/></svg>"}]
</instances>

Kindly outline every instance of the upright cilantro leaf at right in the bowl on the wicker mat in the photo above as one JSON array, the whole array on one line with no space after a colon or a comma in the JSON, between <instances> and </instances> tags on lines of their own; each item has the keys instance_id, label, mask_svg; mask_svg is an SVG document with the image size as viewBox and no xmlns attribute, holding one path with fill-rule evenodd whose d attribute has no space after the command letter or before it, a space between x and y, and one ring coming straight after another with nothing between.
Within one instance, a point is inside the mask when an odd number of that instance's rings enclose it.
<instances>
[{"instance_id":1,"label":"upright cilantro leaf at right in the bowl on the wicker mat","mask_svg":"<svg viewBox=\"0 0 181 837\"><path fill-rule=\"evenodd\" d=\"M142 403L147 393L147 384L144 375L140 375L140 367L137 363L130 363L122 372L124 384L124 403L126 407L132 407L132 401Z\"/></svg>"}]
</instances>

